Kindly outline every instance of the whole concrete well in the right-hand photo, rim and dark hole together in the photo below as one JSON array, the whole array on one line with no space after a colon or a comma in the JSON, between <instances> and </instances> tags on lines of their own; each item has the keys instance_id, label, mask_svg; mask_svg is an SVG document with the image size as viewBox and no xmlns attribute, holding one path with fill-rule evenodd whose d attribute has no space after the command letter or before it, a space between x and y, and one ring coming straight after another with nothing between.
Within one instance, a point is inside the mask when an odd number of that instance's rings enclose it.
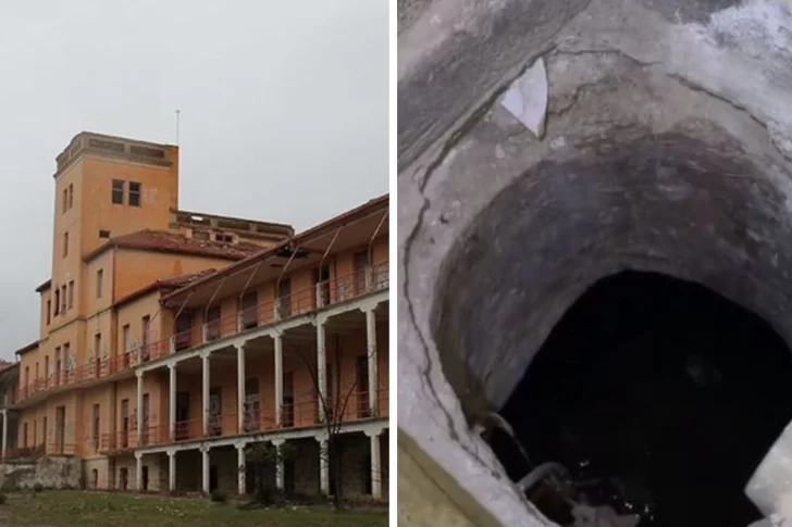
<instances>
[{"instance_id":1,"label":"whole concrete well in the right-hand photo, rim and dark hole together","mask_svg":"<svg viewBox=\"0 0 792 527\"><path fill-rule=\"evenodd\" d=\"M399 524L792 520L792 4L398 5Z\"/></svg>"}]
</instances>

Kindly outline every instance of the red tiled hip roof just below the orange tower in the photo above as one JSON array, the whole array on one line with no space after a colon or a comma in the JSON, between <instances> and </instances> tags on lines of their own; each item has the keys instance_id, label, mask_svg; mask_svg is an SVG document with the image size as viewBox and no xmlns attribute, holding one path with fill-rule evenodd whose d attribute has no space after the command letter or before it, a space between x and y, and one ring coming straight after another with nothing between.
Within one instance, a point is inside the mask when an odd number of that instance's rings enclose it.
<instances>
[{"instance_id":1,"label":"red tiled hip roof just below the orange tower","mask_svg":"<svg viewBox=\"0 0 792 527\"><path fill-rule=\"evenodd\" d=\"M99 246L85 258L89 262L108 249L138 249L141 251L170 252L177 254L195 254L225 260L244 260L263 250L262 247L247 241L225 243L222 241L197 240L178 233L144 229L119 236Z\"/></svg>"}]
</instances>

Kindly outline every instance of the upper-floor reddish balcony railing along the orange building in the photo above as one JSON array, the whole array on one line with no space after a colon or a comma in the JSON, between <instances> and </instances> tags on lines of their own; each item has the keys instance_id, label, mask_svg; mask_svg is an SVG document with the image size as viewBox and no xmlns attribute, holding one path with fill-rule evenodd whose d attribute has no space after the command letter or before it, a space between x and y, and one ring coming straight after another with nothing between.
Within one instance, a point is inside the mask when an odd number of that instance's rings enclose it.
<instances>
[{"instance_id":1,"label":"upper-floor reddish balcony railing along the orange building","mask_svg":"<svg viewBox=\"0 0 792 527\"><path fill-rule=\"evenodd\" d=\"M265 300L230 315L209 321L197 327L177 332L166 339L114 356L90 360L73 369L62 369L48 377L34 379L9 393L9 404L16 404L29 397L53 388L72 386L100 379L136 365L185 351L219 338L233 337L255 327L272 324L292 316L351 300L361 294L387 289L389 286L388 262L366 267L347 276L315 284L311 288L294 291L275 300Z\"/></svg>"}]
</instances>

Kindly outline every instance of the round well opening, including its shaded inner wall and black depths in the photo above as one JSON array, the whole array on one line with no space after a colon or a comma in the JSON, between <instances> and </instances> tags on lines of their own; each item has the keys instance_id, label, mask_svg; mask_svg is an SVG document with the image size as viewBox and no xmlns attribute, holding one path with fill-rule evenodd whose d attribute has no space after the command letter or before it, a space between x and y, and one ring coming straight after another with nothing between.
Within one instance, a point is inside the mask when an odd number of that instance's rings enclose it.
<instances>
[{"instance_id":1,"label":"round well opening, including its shaded inner wall and black depths","mask_svg":"<svg viewBox=\"0 0 792 527\"><path fill-rule=\"evenodd\" d=\"M757 518L743 487L792 418L789 175L695 126L624 128L587 152L550 153L449 251L432 316L462 406L500 410L534 463L561 462L574 478L619 473L631 489L621 505L649 505L641 526ZM619 321L618 330L586 334L596 327L576 313ZM644 339L642 352L624 351L631 339ZM592 365L565 365L582 356L576 346L596 349L598 379ZM710 386L707 375L722 375L717 389L695 384ZM583 377L589 391L576 386ZM711 429L691 430L704 422ZM503 440L495 435L496 454L519 479L528 467Z\"/></svg>"}]
</instances>

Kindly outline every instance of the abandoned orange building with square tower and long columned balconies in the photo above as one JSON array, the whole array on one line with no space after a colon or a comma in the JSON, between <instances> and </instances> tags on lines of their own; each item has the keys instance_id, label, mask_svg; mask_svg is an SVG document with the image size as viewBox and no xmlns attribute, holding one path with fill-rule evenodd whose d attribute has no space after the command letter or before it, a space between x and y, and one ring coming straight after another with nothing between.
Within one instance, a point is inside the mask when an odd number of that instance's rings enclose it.
<instances>
[{"instance_id":1,"label":"abandoned orange building with square tower and long columned balconies","mask_svg":"<svg viewBox=\"0 0 792 527\"><path fill-rule=\"evenodd\" d=\"M269 444L273 489L386 499L387 195L298 234L187 212L177 147L91 133L54 185L40 334L0 372L2 477L245 494Z\"/></svg>"}]
</instances>

